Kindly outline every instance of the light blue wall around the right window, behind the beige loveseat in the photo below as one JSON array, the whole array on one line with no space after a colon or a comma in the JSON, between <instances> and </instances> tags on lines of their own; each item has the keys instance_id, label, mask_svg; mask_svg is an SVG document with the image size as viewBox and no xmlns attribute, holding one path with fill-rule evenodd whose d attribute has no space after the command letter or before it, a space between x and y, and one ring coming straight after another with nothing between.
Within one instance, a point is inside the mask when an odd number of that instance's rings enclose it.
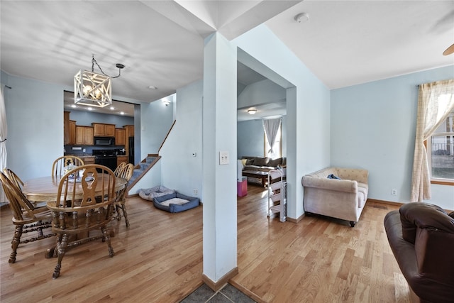
<instances>
[{"instance_id":1,"label":"light blue wall around the right window, behind the beige loveseat","mask_svg":"<svg viewBox=\"0 0 454 303\"><path fill-rule=\"evenodd\" d=\"M454 77L454 66L333 89L331 165L369 170L369 197L409 202L417 84ZM397 189L397 196L391 194ZM454 209L454 187L432 185L433 204Z\"/></svg>"}]
</instances>

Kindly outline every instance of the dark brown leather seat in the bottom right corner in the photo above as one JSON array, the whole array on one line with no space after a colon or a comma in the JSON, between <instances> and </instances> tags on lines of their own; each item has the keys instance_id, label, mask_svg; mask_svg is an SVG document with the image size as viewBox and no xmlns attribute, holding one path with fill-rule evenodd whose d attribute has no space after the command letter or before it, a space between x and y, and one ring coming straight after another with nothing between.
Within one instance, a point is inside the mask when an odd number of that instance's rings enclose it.
<instances>
[{"instance_id":1,"label":"dark brown leather seat in the bottom right corner","mask_svg":"<svg viewBox=\"0 0 454 303\"><path fill-rule=\"evenodd\" d=\"M404 204L384 217L389 246L414 302L454 302L454 212Z\"/></svg>"}]
</instances>

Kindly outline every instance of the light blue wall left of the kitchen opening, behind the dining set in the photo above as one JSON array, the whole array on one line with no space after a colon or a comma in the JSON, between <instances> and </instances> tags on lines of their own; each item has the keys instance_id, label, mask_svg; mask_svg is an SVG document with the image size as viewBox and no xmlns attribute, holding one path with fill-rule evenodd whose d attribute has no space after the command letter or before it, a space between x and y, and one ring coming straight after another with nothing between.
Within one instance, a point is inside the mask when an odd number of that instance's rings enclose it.
<instances>
[{"instance_id":1,"label":"light blue wall left of the kitchen opening, behind the dining set","mask_svg":"<svg viewBox=\"0 0 454 303\"><path fill-rule=\"evenodd\" d=\"M6 166L24 181L50 175L53 160L63 155L63 89L11 75L7 79L12 89L5 92Z\"/></svg>"}]
</instances>

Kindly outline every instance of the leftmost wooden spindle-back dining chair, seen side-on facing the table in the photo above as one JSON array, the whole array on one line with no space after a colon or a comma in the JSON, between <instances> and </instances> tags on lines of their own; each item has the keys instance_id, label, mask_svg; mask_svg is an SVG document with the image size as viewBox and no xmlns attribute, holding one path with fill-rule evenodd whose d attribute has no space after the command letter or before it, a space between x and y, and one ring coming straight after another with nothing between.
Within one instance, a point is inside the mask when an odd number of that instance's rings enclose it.
<instances>
[{"instance_id":1,"label":"leftmost wooden spindle-back dining chair, seen side-on facing the table","mask_svg":"<svg viewBox=\"0 0 454 303\"><path fill-rule=\"evenodd\" d=\"M4 189L9 206L13 213L13 224L15 226L13 240L11 241L11 255L9 263L16 262L17 248L19 244L43 240L55 236L55 233L44 233L43 231L51 227L52 215L48 208L44 206L34 206L18 187L16 180L11 180L4 172L0 172L1 186ZM38 232L36 237L22 238L23 233Z\"/></svg>"}]
</instances>

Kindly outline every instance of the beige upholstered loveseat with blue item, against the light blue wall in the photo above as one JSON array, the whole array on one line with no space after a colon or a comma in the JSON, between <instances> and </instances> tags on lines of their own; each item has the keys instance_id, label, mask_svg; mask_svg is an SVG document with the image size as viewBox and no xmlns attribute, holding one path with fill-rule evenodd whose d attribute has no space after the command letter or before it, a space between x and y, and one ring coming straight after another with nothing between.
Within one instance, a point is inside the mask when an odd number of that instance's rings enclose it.
<instances>
[{"instance_id":1,"label":"beige upholstered loveseat with blue item, against the light blue wall","mask_svg":"<svg viewBox=\"0 0 454 303\"><path fill-rule=\"evenodd\" d=\"M367 170L340 167L305 175L301 180L304 213L343 219L354 227L366 204L368 176Z\"/></svg>"}]
</instances>

